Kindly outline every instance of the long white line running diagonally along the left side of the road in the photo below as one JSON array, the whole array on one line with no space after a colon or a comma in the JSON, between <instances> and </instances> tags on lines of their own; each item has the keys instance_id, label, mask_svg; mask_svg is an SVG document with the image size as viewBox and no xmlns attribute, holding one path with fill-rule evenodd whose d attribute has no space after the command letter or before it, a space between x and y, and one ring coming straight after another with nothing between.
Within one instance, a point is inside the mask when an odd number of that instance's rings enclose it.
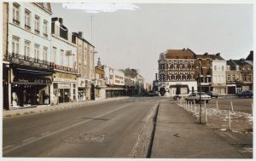
<instances>
[{"instance_id":1,"label":"long white line running diagonally along the left side of the road","mask_svg":"<svg viewBox=\"0 0 256 161\"><path fill-rule=\"evenodd\" d=\"M58 129L58 130L56 130L56 131L54 131L54 132L52 132L52 133L43 135L43 136L38 137L38 138L35 138L35 139L33 139L33 140L23 142L23 143L21 143L19 146L9 148L8 150L4 151L3 154L6 154L6 153L9 153L9 152L15 151L16 149L19 149L20 147L25 147L25 146L27 146L27 145L29 145L29 144L32 144L32 143L35 142L35 141L40 141L40 140L42 140L42 139L44 139L44 138L46 138L46 137L48 137L48 136L58 134L58 133L60 133L60 132L62 132L62 131L65 131L65 130L67 130L67 129L71 129L71 128L73 128L73 127L79 126L80 124L87 123L87 122L89 122L89 121L91 121L91 120L93 120L93 119L95 119L95 118L101 118L102 116L108 115L109 113L116 112L116 111L119 111L119 110L121 110L121 109L123 109L123 108L126 108L127 106L131 106L131 103L129 103L129 104L125 105L125 106L121 106L120 108L114 109L114 110L112 110L112 111L110 111L110 112L106 112L106 113L103 113L103 114L101 114L101 115L98 115L98 116L96 116L96 117L94 117L94 118L90 118L90 119L84 120L84 121L82 121L82 122L79 122L79 123L77 123L77 124L73 124L73 125L71 125L71 126L67 126L67 127L63 128L63 129Z\"/></svg>"}]
</instances>

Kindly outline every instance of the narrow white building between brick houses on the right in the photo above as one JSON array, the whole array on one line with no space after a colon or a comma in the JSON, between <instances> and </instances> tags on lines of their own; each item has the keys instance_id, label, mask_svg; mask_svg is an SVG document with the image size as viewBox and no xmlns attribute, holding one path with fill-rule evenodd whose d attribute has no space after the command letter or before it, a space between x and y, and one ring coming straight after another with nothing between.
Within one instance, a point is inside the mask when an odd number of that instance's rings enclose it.
<instances>
[{"instance_id":1,"label":"narrow white building between brick houses on the right","mask_svg":"<svg viewBox=\"0 0 256 161\"><path fill-rule=\"evenodd\" d=\"M218 95L226 95L226 60L212 60L212 87Z\"/></svg>"}]
</instances>

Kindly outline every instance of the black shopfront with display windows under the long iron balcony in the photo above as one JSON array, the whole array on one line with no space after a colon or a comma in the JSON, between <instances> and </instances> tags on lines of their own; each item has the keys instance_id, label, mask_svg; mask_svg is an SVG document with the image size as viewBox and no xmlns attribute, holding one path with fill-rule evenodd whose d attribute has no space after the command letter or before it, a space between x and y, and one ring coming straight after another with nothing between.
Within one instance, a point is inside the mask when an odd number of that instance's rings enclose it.
<instances>
[{"instance_id":1,"label":"black shopfront with display windows under the long iron balcony","mask_svg":"<svg viewBox=\"0 0 256 161\"><path fill-rule=\"evenodd\" d=\"M52 72L14 68L12 70L11 108L49 105Z\"/></svg>"}]
</instances>

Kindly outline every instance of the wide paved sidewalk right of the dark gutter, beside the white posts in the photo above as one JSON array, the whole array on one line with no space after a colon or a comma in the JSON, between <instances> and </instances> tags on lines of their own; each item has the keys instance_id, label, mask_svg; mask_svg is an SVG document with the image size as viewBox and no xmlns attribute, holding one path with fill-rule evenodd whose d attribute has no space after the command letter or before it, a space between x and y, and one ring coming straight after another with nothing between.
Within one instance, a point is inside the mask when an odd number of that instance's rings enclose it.
<instances>
[{"instance_id":1,"label":"wide paved sidewalk right of the dark gutter, beside the white posts","mask_svg":"<svg viewBox=\"0 0 256 161\"><path fill-rule=\"evenodd\" d=\"M252 158L242 153L240 147L225 141L228 135L219 133L221 131L198 124L198 120L175 101L161 101L151 158Z\"/></svg>"}]
</instances>

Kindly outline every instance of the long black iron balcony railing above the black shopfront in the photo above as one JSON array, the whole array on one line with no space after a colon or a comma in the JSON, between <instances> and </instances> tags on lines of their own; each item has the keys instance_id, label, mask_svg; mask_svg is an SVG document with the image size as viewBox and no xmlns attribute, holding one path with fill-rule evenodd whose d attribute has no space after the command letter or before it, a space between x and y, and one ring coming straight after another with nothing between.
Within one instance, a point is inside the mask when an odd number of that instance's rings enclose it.
<instances>
[{"instance_id":1,"label":"long black iron balcony railing above the black shopfront","mask_svg":"<svg viewBox=\"0 0 256 161\"><path fill-rule=\"evenodd\" d=\"M53 70L54 63L46 60L38 60L26 55L19 55L15 53L9 53L9 62L21 66L31 66L40 69Z\"/></svg>"}]
</instances>

